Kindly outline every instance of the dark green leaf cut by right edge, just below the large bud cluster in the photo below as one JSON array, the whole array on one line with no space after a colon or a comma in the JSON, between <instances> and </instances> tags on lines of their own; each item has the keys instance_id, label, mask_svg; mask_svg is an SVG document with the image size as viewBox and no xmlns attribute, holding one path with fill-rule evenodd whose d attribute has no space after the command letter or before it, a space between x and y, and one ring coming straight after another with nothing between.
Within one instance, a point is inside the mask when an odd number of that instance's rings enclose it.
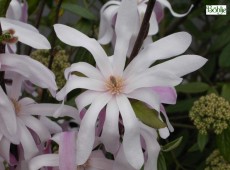
<instances>
[{"instance_id":1,"label":"dark green leaf cut by right edge, just below the large bud cluster","mask_svg":"<svg viewBox=\"0 0 230 170\"><path fill-rule=\"evenodd\" d=\"M225 160L230 161L230 128L216 136L217 147Z\"/></svg>"}]
</instances>

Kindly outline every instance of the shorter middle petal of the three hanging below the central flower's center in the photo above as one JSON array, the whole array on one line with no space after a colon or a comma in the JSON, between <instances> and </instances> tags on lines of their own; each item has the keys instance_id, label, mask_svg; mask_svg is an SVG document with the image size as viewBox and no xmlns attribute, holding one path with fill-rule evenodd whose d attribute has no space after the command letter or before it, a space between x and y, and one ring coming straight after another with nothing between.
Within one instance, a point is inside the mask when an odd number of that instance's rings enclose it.
<instances>
[{"instance_id":1,"label":"shorter middle petal of the three hanging below the central flower's center","mask_svg":"<svg viewBox=\"0 0 230 170\"><path fill-rule=\"evenodd\" d=\"M101 134L101 141L108 152L116 153L120 144L119 135L119 109L115 98L106 106L105 122Z\"/></svg>"}]
</instances>

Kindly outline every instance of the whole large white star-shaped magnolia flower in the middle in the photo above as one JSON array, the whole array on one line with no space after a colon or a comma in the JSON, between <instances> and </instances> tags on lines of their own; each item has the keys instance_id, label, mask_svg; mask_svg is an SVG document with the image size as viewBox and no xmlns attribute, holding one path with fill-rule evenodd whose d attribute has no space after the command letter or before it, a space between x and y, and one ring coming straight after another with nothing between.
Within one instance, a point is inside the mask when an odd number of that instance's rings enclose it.
<instances>
[{"instance_id":1,"label":"whole large white star-shaped magnolia flower in the middle","mask_svg":"<svg viewBox=\"0 0 230 170\"><path fill-rule=\"evenodd\" d=\"M67 83L56 96L58 100L63 100L73 89L87 89L76 98L79 111L91 105L82 119L78 134L78 164L84 164L92 151L97 117L106 106L106 120L102 131L102 135L107 136L103 141L106 149L108 145L114 145L119 140L120 113L125 128L125 156L133 167L140 169L144 163L140 127L128 98L142 101L159 111L159 97L151 88L176 86L182 81L180 77L197 70L207 61L197 55L182 55L150 67L156 60L177 56L189 47L191 36L186 32L179 32L148 45L124 69L129 41L137 23L136 5L135 1L124 0L119 8L115 28L117 40L112 63L95 39L65 25L54 26L61 41L86 48L97 64L97 67L84 62L72 64L65 71L66 78L69 76ZM71 75L75 71L86 77Z\"/></svg>"}]
</instances>

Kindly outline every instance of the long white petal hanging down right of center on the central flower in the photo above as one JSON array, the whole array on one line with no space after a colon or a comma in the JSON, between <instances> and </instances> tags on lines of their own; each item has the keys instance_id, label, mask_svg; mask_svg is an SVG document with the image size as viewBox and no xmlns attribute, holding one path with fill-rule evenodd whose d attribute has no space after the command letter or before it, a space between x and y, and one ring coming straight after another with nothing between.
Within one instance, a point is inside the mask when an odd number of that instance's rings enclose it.
<instances>
[{"instance_id":1,"label":"long white petal hanging down right of center on the central flower","mask_svg":"<svg viewBox=\"0 0 230 170\"><path fill-rule=\"evenodd\" d=\"M126 159L134 168L141 169L144 157L140 143L139 122L126 96L121 94L116 96L116 100L125 127L123 147Z\"/></svg>"}]
</instances>

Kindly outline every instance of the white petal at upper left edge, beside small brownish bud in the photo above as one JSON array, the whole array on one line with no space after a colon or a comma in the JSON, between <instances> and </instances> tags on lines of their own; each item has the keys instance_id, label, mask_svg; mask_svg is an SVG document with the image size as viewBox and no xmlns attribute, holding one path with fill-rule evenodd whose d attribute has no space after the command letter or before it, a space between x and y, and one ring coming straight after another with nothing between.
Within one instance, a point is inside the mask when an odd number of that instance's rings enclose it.
<instances>
[{"instance_id":1,"label":"white petal at upper left edge, beside small brownish bud","mask_svg":"<svg viewBox=\"0 0 230 170\"><path fill-rule=\"evenodd\" d=\"M36 49L51 48L49 41L35 27L7 18L0 18L0 22L3 30L15 30L14 36L18 37L18 41Z\"/></svg>"}]
</instances>

